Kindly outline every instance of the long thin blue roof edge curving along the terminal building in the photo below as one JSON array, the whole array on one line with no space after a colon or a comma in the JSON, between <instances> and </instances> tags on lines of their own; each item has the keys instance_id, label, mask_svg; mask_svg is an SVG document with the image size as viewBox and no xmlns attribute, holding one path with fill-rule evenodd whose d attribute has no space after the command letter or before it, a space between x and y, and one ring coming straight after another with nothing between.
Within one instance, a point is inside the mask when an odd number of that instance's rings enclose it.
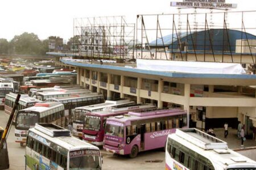
<instances>
[{"instance_id":1,"label":"long thin blue roof edge curving along the terminal building","mask_svg":"<svg viewBox=\"0 0 256 170\"><path fill-rule=\"evenodd\" d=\"M225 79L255 79L256 80L256 75L248 75L248 74L173 73L173 72L154 71L154 70L141 70L141 69L135 69L130 67L120 67L120 66L113 66L113 65L98 65L98 64L91 64L91 63L72 62L72 61L65 61L64 59L60 59L60 61L65 64L78 66L78 67L91 67L96 69L127 71L131 73L166 76L170 78L225 78Z\"/></svg>"}]
</instances>

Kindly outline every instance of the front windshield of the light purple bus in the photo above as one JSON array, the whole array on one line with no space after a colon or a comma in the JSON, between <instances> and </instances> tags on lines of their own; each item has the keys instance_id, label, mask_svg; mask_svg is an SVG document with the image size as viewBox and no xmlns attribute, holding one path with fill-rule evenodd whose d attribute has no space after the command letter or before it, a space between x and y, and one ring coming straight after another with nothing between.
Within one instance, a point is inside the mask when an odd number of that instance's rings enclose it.
<instances>
[{"instance_id":1,"label":"front windshield of the light purple bus","mask_svg":"<svg viewBox=\"0 0 256 170\"><path fill-rule=\"evenodd\" d=\"M107 121L105 134L123 138L123 124L114 121Z\"/></svg>"}]
</instances>

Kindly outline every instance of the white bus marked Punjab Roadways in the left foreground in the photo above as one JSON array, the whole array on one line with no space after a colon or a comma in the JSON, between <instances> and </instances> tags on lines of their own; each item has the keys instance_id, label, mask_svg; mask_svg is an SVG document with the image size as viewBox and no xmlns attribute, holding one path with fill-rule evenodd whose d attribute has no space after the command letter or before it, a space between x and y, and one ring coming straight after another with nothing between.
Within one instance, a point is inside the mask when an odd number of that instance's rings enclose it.
<instances>
[{"instance_id":1,"label":"white bus marked Punjab Roadways in the left foreground","mask_svg":"<svg viewBox=\"0 0 256 170\"><path fill-rule=\"evenodd\" d=\"M26 169L101 168L99 148L71 137L69 130L53 124L36 124L28 131Z\"/></svg>"}]
</instances>

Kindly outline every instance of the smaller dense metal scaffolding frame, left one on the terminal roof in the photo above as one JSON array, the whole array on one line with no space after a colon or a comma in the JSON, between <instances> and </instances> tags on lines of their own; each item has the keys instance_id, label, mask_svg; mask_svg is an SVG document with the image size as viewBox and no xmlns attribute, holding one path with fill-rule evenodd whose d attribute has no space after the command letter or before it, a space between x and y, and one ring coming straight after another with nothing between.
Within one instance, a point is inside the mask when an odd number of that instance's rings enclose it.
<instances>
[{"instance_id":1,"label":"smaller dense metal scaffolding frame, left one on the terminal roof","mask_svg":"<svg viewBox=\"0 0 256 170\"><path fill-rule=\"evenodd\" d=\"M133 58L134 39L135 24L126 23L124 16L73 20L73 45L77 46L80 58Z\"/></svg>"}]
</instances>

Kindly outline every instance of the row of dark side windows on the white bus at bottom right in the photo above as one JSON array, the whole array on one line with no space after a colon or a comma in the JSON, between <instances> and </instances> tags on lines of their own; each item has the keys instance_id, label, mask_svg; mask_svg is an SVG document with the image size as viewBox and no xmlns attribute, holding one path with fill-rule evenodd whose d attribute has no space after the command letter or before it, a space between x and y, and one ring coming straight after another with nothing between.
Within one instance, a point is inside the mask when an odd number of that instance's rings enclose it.
<instances>
[{"instance_id":1,"label":"row of dark side windows on the white bus at bottom right","mask_svg":"<svg viewBox=\"0 0 256 170\"><path fill-rule=\"evenodd\" d=\"M167 151L171 158L192 170L213 170L212 163L203 156L193 152L185 146L174 146L168 141Z\"/></svg>"}]
</instances>

